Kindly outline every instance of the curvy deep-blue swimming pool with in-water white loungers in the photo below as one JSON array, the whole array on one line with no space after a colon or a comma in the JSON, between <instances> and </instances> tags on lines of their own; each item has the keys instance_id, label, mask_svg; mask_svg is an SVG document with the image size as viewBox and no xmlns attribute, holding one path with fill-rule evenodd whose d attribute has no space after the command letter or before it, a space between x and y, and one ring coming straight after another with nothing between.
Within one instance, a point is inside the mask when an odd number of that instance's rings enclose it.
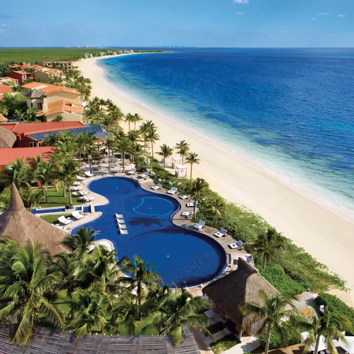
<instances>
[{"instance_id":1,"label":"curvy deep-blue swimming pool with in-water white loungers","mask_svg":"<svg viewBox=\"0 0 354 354\"><path fill-rule=\"evenodd\" d=\"M124 177L94 180L87 188L104 196L108 203L95 206L102 215L83 226L95 230L96 240L112 241L119 258L139 255L154 264L169 285L198 285L222 271L226 254L216 240L171 222L180 209L178 200L145 191L138 181ZM123 215L127 235L119 233L115 213Z\"/></svg>"}]
</instances>

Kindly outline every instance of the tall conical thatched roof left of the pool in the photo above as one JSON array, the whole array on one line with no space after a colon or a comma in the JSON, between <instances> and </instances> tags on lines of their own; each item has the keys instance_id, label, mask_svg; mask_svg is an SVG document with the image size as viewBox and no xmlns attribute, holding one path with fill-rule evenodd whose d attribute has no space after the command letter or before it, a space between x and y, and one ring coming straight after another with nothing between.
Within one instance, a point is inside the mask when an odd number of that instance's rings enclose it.
<instances>
[{"instance_id":1,"label":"tall conical thatched roof left of the pool","mask_svg":"<svg viewBox=\"0 0 354 354\"><path fill-rule=\"evenodd\" d=\"M0 215L0 237L9 237L21 245L27 239L43 242L43 250L51 254L65 251L58 245L67 233L45 222L38 216L30 213L23 205L22 199L14 184L11 185L10 207Z\"/></svg>"}]
</instances>

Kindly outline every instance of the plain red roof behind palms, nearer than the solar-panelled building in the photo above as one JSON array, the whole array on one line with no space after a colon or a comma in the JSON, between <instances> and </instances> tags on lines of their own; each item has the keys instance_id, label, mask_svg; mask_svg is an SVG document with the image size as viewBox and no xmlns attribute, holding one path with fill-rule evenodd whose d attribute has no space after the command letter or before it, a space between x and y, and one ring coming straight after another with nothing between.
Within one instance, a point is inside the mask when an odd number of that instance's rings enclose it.
<instances>
[{"instance_id":1,"label":"plain red roof behind palms, nearer than the solar-panelled building","mask_svg":"<svg viewBox=\"0 0 354 354\"><path fill-rule=\"evenodd\" d=\"M36 157L37 154L44 155L44 160L49 161L49 157L53 154L54 146L39 146L36 148L8 148L2 149L0 154L0 171L16 158L26 161L28 157Z\"/></svg>"}]
</instances>

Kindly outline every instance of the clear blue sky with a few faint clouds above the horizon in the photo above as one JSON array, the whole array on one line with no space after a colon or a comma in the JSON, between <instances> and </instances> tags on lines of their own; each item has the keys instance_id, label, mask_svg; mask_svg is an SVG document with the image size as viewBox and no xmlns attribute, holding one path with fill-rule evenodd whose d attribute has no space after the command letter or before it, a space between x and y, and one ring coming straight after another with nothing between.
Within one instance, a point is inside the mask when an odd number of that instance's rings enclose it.
<instances>
[{"instance_id":1,"label":"clear blue sky with a few faint clouds above the horizon","mask_svg":"<svg viewBox=\"0 0 354 354\"><path fill-rule=\"evenodd\" d=\"M0 47L354 47L354 0L0 4Z\"/></svg>"}]
</instances>

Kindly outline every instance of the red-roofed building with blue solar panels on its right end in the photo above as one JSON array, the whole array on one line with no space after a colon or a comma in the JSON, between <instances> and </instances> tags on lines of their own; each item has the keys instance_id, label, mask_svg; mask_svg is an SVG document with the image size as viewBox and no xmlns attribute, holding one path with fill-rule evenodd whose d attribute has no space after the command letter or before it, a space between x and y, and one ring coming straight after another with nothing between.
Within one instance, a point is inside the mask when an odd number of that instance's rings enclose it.
<instances>
[{"instance_id":1,"label":"red-roofed building with blue solar panels on its right end","mask_svg":"<svg viewBox=\"0 0 354 354\"><path fill-rule=\"evenodd\" d=\"M3 130L8 130L15 135L16 147L36 147L45 139L47 135L60 134L63 130L69 130L72 134L80 132L94 131L97 142L111 138L106 129L98 124L83 124L81 122L39 122L39 123L5 123L0 124L0 146L3 136ZM10 135L11 136L11 135ZM13 139L12 139L13 140ZM6 138L6 142L11 143L10 138ZM15 141L14 141L15 142ZM14 145L14 142L12 145ZM6 143L7 144L7 143ZM4 147L12 147L5 145Z\"/></svg>"}]
</instances>

